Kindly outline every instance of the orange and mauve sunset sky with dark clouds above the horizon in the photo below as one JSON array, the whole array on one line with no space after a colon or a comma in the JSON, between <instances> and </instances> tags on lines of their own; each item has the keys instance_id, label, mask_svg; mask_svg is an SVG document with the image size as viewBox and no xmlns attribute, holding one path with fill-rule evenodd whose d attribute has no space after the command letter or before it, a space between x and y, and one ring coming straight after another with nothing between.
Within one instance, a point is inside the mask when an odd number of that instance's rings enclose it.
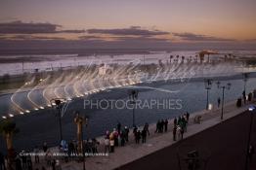
<instances>
[{"instance_id":1,"label":"orange and mauve sunset sky with dark clouds above the horizon","mask_svg":"<svg viewBox=\"0 0 256 170\"><path fill-rule=\"evenodd\" d=\"M255 0L2 0L0 41L255 42Z\"/></svg>"}]
</instances>

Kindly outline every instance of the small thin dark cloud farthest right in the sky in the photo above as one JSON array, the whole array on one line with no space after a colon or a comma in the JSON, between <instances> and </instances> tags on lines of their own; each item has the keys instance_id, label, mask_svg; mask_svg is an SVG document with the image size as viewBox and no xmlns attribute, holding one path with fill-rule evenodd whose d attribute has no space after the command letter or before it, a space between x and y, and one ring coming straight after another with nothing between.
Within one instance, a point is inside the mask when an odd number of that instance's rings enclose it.
<instances>
[{"instance_id":1,"label":"small thin dark cloud farthest right in the sky","mask_svg":"<svg viewBox=\"0 0 256 170\"><path fill-rule=\"evenodd\" d=\"M182 40L187 41L212 41L212 42L225 42L225 41L235 41L234 39L224 39L206 35L199 35L193 33L172 33L175 37L179 37Z\"/></svg>"}]
</instances>

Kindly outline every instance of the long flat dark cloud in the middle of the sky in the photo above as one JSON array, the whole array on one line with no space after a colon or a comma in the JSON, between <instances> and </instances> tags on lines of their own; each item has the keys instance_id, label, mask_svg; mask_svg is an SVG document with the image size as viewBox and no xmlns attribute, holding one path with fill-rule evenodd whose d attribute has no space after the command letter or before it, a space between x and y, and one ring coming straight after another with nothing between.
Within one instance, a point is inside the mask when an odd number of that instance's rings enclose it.
<instances>
[{"instance_id":1,"label":"long flat dark cloud in the middle of the sky","mask_svg":"<svg viewBox=\"0 0 256 170\"><path fill-rule=\"evenodd\" d=\"M87 33L122 35L122 36L156 36L156 35L169 34L169 32L165 32L165 31L142 29L140 26L131 26L129 28L120 28L120 29L88 29Z\"/></svg>"}]
</instances>

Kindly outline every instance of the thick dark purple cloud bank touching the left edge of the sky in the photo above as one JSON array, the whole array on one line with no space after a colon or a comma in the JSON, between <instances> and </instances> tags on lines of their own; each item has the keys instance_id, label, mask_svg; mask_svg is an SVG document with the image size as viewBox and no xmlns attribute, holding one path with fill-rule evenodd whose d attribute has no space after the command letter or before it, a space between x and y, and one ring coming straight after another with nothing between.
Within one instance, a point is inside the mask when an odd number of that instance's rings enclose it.
<instances>
[{"instance_id":1,"label":"thick dark purple cloud bank touching the left edge of the sky","mask_svg":"<svg viewBox=\"0 0 256 170\"><path fill-rule=\"evenodd\" d=\"M48 33L83 33L84 30L58 30L61 25L52 23L25 23L22 21L0 23L0 34L48 34Z\"/></svg>"}]
</instances>

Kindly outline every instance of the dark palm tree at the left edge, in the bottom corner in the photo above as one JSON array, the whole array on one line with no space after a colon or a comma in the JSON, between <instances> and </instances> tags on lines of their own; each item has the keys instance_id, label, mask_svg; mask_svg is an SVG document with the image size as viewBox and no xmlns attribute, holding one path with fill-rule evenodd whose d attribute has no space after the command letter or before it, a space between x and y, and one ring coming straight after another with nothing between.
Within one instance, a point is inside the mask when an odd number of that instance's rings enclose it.
<instances>
[{"instance_id":1,"label":"dark palm tree at the left edge, in the bottom corner","mask_svg":"<svg viewBox=\"0 0 256 170\"><path fill-rule=\"evenodd\" d=\"M6 140L6 146L8 151L8 166L12 169L12 162L14 160L14 148L13 148L13 137L19 130L16 127L16 123L11 119L4 119L0 122L0 133Z\"/></svg>"}]
</instances>

